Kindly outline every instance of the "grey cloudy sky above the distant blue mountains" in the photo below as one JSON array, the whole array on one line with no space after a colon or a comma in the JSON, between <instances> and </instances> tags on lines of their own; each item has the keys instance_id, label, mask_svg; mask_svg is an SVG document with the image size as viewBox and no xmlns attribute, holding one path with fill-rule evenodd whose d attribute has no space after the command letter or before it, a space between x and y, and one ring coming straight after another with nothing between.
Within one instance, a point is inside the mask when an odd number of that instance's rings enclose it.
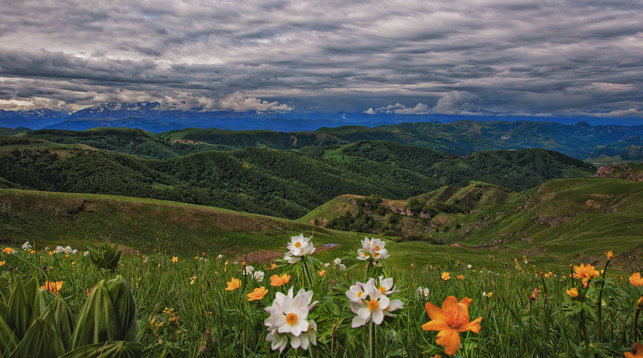
<instances>
[{"instance_id":1,"label":"grey cloudy sky above the distant blue mountains","mask_svg":"<svg viewBox=\"0 0 643 358\"><path fill-rule=\"evenodd\" d=\"M643 118L642 0L1 0L0 108Z\"/></svg>"}]
</instances>

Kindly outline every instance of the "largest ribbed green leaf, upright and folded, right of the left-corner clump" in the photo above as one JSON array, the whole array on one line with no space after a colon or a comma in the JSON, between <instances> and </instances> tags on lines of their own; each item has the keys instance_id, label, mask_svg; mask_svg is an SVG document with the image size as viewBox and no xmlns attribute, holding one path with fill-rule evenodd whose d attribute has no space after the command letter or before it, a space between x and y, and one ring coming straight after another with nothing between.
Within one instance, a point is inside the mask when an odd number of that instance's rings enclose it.
<instances>
[{"instance_id":1,"label":"largest ribbed green leaf, upright and folded, right of the left-corner clump","mask_svg":"<svg viewBox=\"0 0 643 358\"><path fill-rule=\"evenodd\" d=\"M136 301L120 275L102 280L79 313L69 349L107 341L136 341Z\"/></svg>"}]
</instances>

